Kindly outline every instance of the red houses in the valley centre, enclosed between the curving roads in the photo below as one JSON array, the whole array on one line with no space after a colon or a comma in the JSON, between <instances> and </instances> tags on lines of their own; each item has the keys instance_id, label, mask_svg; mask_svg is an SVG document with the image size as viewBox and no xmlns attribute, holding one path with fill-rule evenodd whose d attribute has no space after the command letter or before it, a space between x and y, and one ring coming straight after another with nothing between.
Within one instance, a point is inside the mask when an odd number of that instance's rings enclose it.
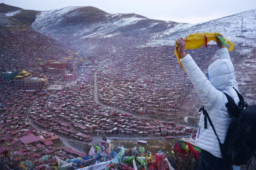
<instances>
[{"instance_id":1,"label":"red houses in the valley centre, enclosed between the curving roads","mask_svg":"<svg viewBox=\"0 0 256 170\"><path fill-rule=\"evenodd\" d=\"M83 141L91 135L179 136L191 133L191 128L175 125L171 120L137 118L101 107L93 101L93 86L83 81L77 81L63 92L51 94L48 107L51 112L41 110L36 115L31 112L31 119L43 118L42 123L48 122L43 124L44 128ZM68 124L57 124L61 121Z\"/></svg>"}]
</instances>

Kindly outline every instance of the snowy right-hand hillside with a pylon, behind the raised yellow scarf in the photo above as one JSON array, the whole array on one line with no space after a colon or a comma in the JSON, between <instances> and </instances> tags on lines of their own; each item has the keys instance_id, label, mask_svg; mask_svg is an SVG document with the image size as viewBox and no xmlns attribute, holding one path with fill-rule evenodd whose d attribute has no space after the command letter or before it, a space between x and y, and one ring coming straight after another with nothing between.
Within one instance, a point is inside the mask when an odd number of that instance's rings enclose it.
<instances>
[{"instance_id":1,"label":"snowy right-hand hillside with a pylon, behind the raised yellow scarf","mask_svg":"<svg viewBox=\"0 0 256 170\"><path fill-rule=\"evenodd\" d=\"M243 36L241 35L241 24L243 17ZM164 32L166 36L152 40L142 46L173 45L179 37L186 37L192 33L218 32L226 38L232 40L235 45L256 47L256 10L241 12L235 15L214 19L199 24L181 24L177 23L174 28Z\"/></svg>"}]
</instances>

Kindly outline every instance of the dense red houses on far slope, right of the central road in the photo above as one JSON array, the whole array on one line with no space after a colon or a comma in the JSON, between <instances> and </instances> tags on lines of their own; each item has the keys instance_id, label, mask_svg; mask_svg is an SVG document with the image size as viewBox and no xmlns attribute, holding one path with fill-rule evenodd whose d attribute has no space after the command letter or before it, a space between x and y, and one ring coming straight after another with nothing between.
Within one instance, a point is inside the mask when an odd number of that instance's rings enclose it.
<instances>
[{"instance_id":1,"label":"dense red houses on far slope, right of the central road","mask_svg":"<svg viewBox=\"0 0 256 170\"><path fill-rule=\"evenodd\" d=\"M103 62L97 73L100 101L134 114L172 119L193 88L173 50L170 46L123 49ZM216 50L210 46L187 53L203 69Z\"/></svg>"}]
</instances>

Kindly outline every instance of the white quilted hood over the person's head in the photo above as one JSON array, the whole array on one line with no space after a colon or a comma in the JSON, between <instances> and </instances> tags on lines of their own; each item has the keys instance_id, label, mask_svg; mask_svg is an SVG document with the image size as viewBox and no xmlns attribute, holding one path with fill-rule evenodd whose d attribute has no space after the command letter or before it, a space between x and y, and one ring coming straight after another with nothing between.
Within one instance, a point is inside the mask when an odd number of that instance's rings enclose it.
<instances>
[{"instance_id":1,"label":"white quilted hood over the person's head","mask_svg":"<svg viewBox=\"0 0 256 170\"><path fill-rule=\"evenodd\" d=\"M221 59L208 67L208 79L217 90L233 87L234 66L231 60Z\"/></svg>"}]
</instances>

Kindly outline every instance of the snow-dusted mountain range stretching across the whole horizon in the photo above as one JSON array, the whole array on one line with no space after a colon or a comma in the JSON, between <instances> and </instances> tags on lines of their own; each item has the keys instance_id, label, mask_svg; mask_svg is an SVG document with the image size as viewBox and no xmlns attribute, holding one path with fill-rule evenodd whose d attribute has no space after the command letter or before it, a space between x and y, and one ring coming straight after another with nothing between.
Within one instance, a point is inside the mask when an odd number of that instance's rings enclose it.
<instances>
[{"instance_id":1,"label":"snow-dusted mountain range stretching across the whole horizon","mask_svg":"<svg viewBox=\"0 0 256 170\"><path fill-rule=\"evenodd\" d=\"M0 4L1 6L2 4ZM219 32L235 45L256 47L256 10L213 19L199 24L149 19L137 14L109 14L98 8L66 7L52 11L23 10L4 4L0 13L25 22L32 29L47 34L84 37L148 38L140 47L173 45L177 38L191 33ZM26 14L26 19L24 18ZM243 18L243 32L241 32ZM29 25L30 24L30 25ZM242 38L241 35L245 38ZM237 37L240 36L240 37Z\"/></svg>"}]
</instances>

